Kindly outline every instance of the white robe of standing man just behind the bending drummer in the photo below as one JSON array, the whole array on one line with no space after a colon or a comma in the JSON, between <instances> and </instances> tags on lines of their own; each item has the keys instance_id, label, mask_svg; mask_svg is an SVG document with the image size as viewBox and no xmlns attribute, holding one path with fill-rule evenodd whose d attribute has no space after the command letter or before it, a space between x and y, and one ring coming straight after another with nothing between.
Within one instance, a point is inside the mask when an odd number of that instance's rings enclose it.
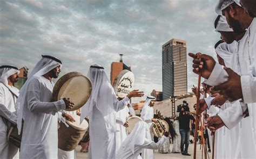
<instances>
[{"instance_id":1,"label":"white robe of standing man just behind the bending drummer","mask_svg":"<svg viewBox=\"0 0 256 159\"><path fill-rule=\"evenodd\" d=\"M148 106L146 108L147 112L145 113L145 116L141 117L143 121L145 121L147 123L147 125L149 126L149 129L152 125L152 119L154 118L154 109L151 106ZM150 131L147 131L147 139L152 139ZM146 158L154 158L154 151L152 149L143 149L142 151L142 158L146 159Z\"/></svg>"}]
</instances>

